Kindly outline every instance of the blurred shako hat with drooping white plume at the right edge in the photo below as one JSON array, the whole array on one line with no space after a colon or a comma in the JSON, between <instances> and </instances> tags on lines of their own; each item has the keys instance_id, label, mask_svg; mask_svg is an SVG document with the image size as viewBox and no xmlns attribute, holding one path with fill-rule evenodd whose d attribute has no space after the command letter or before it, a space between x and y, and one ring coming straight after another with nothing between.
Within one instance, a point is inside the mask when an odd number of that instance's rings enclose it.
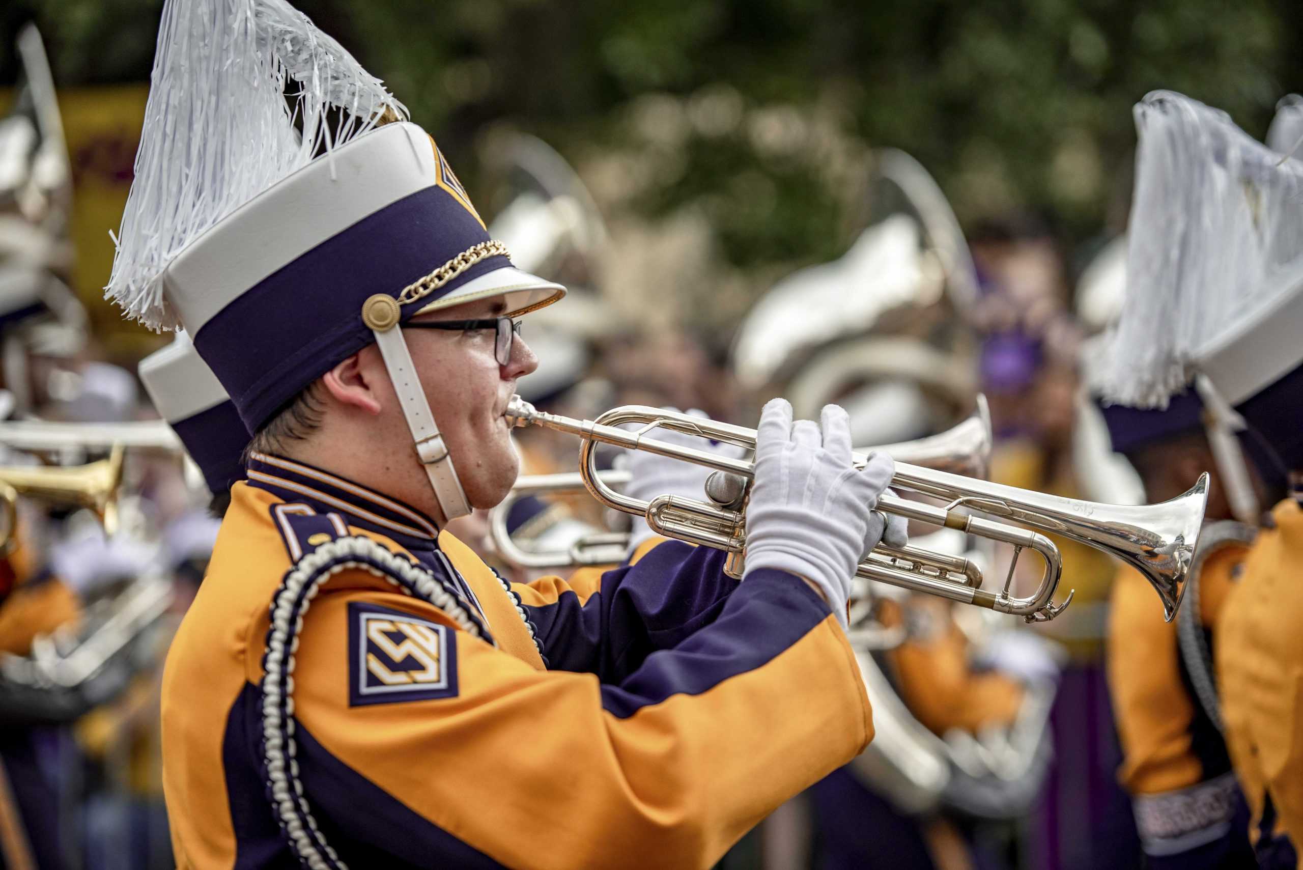
<instances>
[{"instance_id":1,"label":"blurred shako hat with drooping white plume at the right edge","mask_svg":"<svg viewBox=\"0 0 1303 870\"><path fill-rule=\"evenodd\" d=\"M1287 108L1287 107L1282 107ZM1264 469L1303 462L1303 160L1197 100L1154 91L1140 142L1122 320L1092 366L1109 401L1166 406L1197 378ZM1208 397L1205 396L1205 404Z\"/></svg>"}]
</instances>

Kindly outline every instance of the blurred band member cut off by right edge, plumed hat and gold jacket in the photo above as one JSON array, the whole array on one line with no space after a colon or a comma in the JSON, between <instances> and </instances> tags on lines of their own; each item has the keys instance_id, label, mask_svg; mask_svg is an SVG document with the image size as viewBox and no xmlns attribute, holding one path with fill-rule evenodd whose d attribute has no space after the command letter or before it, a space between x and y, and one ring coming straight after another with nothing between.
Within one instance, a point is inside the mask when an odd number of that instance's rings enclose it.
<instances>
[{"instance_id":1,"label":"blurred band member cut off by right edge, plumed hat and gold jacket","mask_svg":"<svg viewBox=\"0 0 1303 870\"><path fill-rule=\"evenodd\" d=\"M1296 484L1303 161L1256 141L1226 112L1173 91L1148 94L1134 115L1130 292L1093 387L1148 408L1196 379L1218 430L1238 431L1264 483ZM1230 484L1229 469L1222 482ZM1259 531L1224 604L1214 659L1226 749L1251 810L1250 839L1259 863L1277 869L1298 865L1303 841L1296 491L1276 505L1272 525Z\"/></svg>"}]
</instances>

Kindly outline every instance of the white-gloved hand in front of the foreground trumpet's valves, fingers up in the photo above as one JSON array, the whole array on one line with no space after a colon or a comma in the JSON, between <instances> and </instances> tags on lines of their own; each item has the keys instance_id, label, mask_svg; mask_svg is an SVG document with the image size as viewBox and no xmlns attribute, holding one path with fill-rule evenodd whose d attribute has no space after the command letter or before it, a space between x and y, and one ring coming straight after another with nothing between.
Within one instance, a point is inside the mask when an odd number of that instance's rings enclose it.
<instances>
[{"instance_id":1,"label":"white-gloved hand in front of the foreground trumpet's valves, fingers up","mask_svg":"<svg viewBox=\"0 0 1303 870\"><path fill-rule=\"evenodd\" d=\"M874 512L895 473L891 457L872 453L868 466L855 469L846 410L825 405L820 421L794 425L783 399L761 413L747 507L747 573L778 568L809 580L846 628L856 565L883 535L903 547L906 521L887 522Z\"/></svg>"}]
</instances>

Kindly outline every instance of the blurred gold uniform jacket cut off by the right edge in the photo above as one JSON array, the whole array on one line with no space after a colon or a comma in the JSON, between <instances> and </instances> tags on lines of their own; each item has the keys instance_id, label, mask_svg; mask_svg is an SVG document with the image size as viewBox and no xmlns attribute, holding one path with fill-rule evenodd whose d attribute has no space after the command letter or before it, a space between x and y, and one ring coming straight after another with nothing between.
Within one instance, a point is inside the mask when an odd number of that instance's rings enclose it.
<instances>
[{"instance_id":1,"label":"blurred gold uniform jacket cut off by the right edge","mask_svg":"<svg viewBox=\"0 0 1303 870\"><path fill-rule=\"evenodd\" d=\"M1226 746L1268 870L1303 867L1303 508L1286 499L1217 625Z\"/></svg>"}]
</instances>

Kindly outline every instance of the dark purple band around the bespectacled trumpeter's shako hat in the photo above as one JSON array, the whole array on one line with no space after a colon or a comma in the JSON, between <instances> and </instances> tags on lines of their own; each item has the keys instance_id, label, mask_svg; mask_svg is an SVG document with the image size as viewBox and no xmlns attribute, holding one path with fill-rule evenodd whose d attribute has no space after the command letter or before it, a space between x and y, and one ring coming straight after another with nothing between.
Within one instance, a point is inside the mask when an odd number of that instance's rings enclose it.
<instances>
[{"instance_id":1,"label":"dark purple band around the bespectacled trumpeter's shako hat","mask_svg":"<svg viewBox=\"0 0 1303 870\"><path fill-rule=\"evenodd\" d=\"M249 431L258 431L331 366L375 337L362 302L397 296L489 233L442 188L404 197L327 238L215 314L194 346L225 387ZM466 281L511 266L494 255L403 309L403 319Z\"/></svg>"}]
</instances>

